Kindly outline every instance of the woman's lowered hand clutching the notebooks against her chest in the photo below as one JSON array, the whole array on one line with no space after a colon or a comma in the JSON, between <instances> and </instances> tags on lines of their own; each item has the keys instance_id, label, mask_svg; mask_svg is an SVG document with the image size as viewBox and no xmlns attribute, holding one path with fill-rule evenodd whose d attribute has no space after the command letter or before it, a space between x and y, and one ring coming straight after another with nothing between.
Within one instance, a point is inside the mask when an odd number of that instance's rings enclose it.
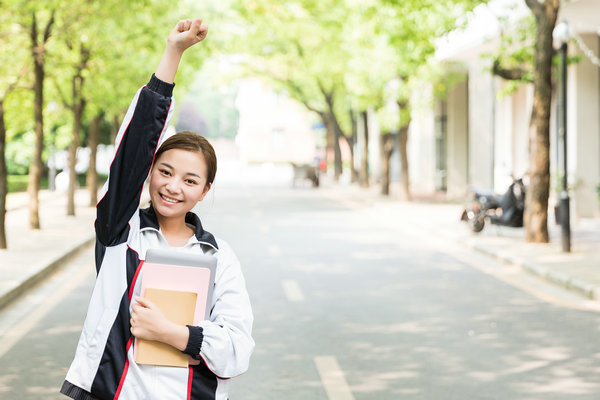
<instances>
[{"instance_id":1,"label":"woman's lowered hand clutching the notebooks against her chest","mask_svg":"<svg viewBox=\"0 0 600 400\"><path fill-rule=\"evenodd\" d=\"M151 301L136 296L131 306L131 334L138 339L155 340L183 351L187 347L189 330L185 325L169 321Z\"/></svg>"}]
</instances>

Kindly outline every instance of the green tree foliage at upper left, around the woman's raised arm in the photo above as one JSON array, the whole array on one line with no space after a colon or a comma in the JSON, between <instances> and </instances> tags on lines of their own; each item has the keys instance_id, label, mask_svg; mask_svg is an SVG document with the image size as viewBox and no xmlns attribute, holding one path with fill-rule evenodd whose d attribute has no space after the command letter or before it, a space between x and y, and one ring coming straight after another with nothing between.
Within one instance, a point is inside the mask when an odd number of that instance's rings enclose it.
<instances>
[{"instance_id":1,"label":"green tree foliage at upper left, around the woman's raised arm","mask_svg":"<svg viewBox=\"0 0 600 400\"><path fill-rule=\"evenodd\" d=\"M207 3L207 2L203 2ZM73 115L69 106L74 100L73 77L78 68L84 79L86 99L82 143L86 141L90 120L103 113L107 120L122 114L135 91L148 81L158 64L168 33L178 20L203 16L210 22L210 8L195 1L181 1L166 7L158 0L123 2L117 0L73 0L43 2L3 0L0 13L0 98L10 85L17 88L6 97L7 163L9 170L23 173L31 160L33 142L33 79L30 29L32 13L41 37L45 24L54 12L54 25L45 47L44 136L48 147L66 149L72 140ZM206 13L205 13L206 11ZM207 41L209 43L210 41ZM81 63L82 49L89 60ZM186 53L177 76L176 96L208 57L211 48L198 46ZM102 142L108 143L106 123L102 125Z\"/></svg>"}]
</instances>

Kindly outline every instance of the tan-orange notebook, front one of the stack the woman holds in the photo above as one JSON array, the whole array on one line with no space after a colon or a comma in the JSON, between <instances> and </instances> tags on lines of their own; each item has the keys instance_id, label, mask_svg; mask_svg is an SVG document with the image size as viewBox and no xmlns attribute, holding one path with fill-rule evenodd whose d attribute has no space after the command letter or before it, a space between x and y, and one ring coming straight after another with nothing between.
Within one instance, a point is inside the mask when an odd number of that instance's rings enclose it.
<instances>
[{"instance_id":1,"label":"tan-orange notebook, front one of the stack the woman holds","mask_svg":"<svg viewBox=\"0 0 600 400\"><path fill-rule=\"evenodd\" d=\"M197 296L194 292L146 288L144 297L154 303L169 321L191 325L194 322ZM187 367L189 356L168 344L136 338L135 362Z\"/></svg>"}]
</instances>

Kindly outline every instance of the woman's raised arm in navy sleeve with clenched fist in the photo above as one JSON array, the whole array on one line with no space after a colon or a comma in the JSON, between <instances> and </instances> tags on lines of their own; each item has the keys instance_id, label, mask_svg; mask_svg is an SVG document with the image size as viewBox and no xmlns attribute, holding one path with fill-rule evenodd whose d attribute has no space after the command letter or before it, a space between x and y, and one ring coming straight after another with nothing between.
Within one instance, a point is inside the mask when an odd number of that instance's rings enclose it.
<instances>
[{"instance_id":1,"label":"woman's raised arm in navy sleeve with clenched fist","mask_svg":"<svg viewBox=\"0 0 600 400\"><path fill-rule=\"evenodd\" d=\"M206 37L200 19L179 21L150 82L138 91L117 136L109 179L97 205L96 236L105 246L122 243L138 208L160 137L173 113L175 74L183 52Z\"/></svg>"}]
</instances>

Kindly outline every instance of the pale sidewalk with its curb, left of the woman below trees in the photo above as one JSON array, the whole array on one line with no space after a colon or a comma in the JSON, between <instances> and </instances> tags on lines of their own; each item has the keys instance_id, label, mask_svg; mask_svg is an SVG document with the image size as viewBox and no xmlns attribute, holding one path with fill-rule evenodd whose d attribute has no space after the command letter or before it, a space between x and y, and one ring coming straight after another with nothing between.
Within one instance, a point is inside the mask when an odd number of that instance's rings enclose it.
<instances>
[{"instance_id":1,"label":"pale sidewalk with its curb, left of the woman below trees","mask_svg":"<svg viewBox=\"0 0 600 400\"><path fill-rule=\"evenodd\" d=\"M66 196L41 191L40 224L29 229L27 193L7 197L8 249L0 250L0 308L50 275L80 249L94 242L96 210L86 190L76 193L76 216L66 216Z\"/></svg>"}]
</instances>

